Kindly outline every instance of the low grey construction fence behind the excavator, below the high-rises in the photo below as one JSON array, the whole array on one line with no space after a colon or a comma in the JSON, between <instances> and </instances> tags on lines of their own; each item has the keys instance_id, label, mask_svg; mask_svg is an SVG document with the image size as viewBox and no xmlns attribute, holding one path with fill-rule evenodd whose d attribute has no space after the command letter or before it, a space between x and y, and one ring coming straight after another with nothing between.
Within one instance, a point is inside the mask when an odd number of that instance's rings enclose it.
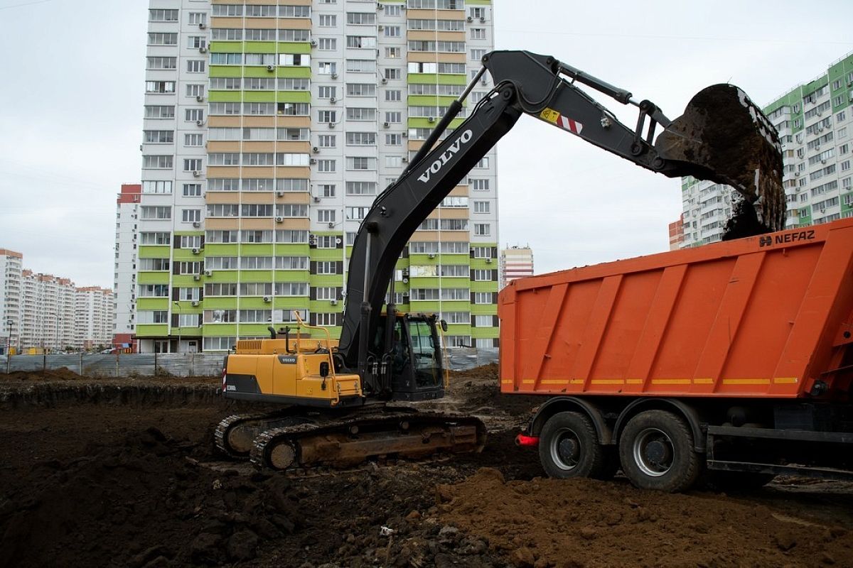
<instances>
[{"instance_id":1,"label":"low grey construction fence behind the excavator, below the high-rises","mask_svg":"<svg viewBox=\"0 0 853 568\"><path fill-rule=\"evenodd\" d=\"M497 349L450 347L451 370L497 363ZM117 353L73 355L0 355L0 372L67 369L81 376L221 376L224 353Z\"/></svg>"}]
</instances>

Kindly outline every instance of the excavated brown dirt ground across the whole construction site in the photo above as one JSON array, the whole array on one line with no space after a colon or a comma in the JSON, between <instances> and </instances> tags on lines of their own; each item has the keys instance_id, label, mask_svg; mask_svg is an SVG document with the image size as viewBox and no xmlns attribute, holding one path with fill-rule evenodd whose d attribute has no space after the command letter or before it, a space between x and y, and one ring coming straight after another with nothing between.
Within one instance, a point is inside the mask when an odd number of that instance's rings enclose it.
<instances>
[{"instance_id":1,"label":"excavated brown dirt ground across the whole construction site","mask_svg":"<svg viewBox=\"0 0 853 568\"><path fill-rule=\"evenodd\" d=\"M541 479L513 445L539 399L496 368L432 404L481 416L484 452L258 473L212 451L217 379L0 375L0 566L853 566L853 485L664 495Z\"/></svg>"}]
</instances>

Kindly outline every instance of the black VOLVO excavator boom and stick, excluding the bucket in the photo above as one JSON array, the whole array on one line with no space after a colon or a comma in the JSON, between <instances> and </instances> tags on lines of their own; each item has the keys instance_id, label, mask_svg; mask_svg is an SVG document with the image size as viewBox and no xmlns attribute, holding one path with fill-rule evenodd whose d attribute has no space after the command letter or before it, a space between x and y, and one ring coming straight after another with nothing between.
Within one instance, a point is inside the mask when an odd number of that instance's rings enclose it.
<instances>
[{"instance_id":1,"label":"black VOLVO excavator boom and stick, excluding the bucket","mask_svg":"<svg viewBox=\"0 0 853 568\"><path fill-rule=\"evenodd\" d=\"M495 88L470 116L438 146L434 144L456 118L462 103L488 70ZM566 78L567 77L567 78ZM639 109L635 129L620 123L604 106L578 89L583 83L623 104ZM679 177L693 175L717 180L703 164L666 159L653 144L658 124L670 126L658 107L636 102L630 92L546 55L526 51L495 51L483 58L483 68L439 121L412 158L403 175L374 201L352 247L339 363L363 377L366 390L381 393L389 385L368 369L369 341L376 335L389 282L409 238L450 191L496 145L522 114L529 114L643 168ZM387 313L393 318L393 300ZM388 336L388 334L386 334Z\"/></svg>"}]
</instances>

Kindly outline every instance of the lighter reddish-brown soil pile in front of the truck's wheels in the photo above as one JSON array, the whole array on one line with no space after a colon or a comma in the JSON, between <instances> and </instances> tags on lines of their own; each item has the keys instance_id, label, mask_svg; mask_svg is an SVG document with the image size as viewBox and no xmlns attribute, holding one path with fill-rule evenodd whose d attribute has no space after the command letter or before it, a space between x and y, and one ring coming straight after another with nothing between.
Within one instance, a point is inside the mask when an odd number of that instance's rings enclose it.
<instances>
[{"instance_id":1,"label":"lighter reddish-brown soil pile in front of the truck's wheels","mask_svg":"<svg viewBox=\"0 0 853 568\"><path fill-rule=\"evenodd\" d=\"M846 565L853 532L733 502L592 479L506 481L481 469L440 485L440 519L516 566Z\"/></svg>"}]
</instances>

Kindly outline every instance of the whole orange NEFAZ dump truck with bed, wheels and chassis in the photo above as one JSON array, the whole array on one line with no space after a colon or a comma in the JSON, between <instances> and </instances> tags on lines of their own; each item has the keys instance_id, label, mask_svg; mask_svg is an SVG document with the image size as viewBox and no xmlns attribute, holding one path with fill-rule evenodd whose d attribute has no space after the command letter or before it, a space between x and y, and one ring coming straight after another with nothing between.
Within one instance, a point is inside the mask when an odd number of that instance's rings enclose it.
<instances>
[{"instance_id":1,"label":"whole orange NEFAZ dump truck with bed, wheels and chassis","mask_svg":"<svg viewBox=\"0 0 853 568\"><path fill-rule=\"evenodd\" d=\"M515 280L498 304L501 390L543 395L517 442L551 476L853 477L853 219Z\"/></svg>"}]
</instances>

